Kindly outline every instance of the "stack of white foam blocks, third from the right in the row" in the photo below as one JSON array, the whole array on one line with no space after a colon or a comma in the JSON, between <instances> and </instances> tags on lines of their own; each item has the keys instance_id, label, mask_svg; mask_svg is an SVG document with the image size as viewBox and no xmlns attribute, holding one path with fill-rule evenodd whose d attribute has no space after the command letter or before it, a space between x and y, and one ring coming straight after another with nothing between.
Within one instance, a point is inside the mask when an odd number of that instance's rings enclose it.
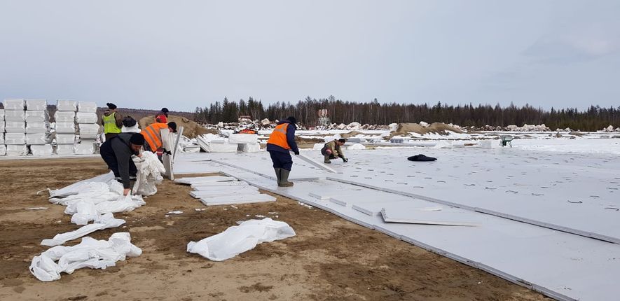
<instances>
[{"instance_id":1,"label":"stack of white foam blocks, third from the right in the row","mask_svg":"<svg viewBox=\"0 0 620 301\"><path fill-rule=\"evenodd\" d=\"M32 155L52 155L46 99L26 99L26 144Z\"/></svg>"}]
</instances>

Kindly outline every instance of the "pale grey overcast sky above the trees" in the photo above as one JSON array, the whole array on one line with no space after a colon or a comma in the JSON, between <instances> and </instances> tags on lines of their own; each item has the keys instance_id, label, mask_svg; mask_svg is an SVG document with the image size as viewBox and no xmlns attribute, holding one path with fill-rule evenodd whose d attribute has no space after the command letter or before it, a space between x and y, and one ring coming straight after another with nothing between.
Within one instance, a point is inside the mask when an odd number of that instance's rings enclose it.
<instances>
[{"instance_id":1,"label":"pale grey overcast sky above the trees","mask_svg":"<svg viewBox=\"0 0 620 301\"><path fill-rule=\"evenodd\" d=\"M0 98L620 106L620 1L0 0Z\"/></svg>"}]
</instances>

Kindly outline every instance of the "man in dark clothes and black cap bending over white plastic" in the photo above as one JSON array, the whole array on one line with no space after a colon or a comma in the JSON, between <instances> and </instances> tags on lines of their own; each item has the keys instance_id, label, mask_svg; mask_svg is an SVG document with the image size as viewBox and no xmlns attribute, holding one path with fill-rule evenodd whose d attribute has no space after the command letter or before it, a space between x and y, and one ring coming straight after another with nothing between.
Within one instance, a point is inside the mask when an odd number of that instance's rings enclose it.
<instances>
[{"instance_id":1,"label":"man in dark clothes and black cap bending over white plastic","mask_svg":"<svg viewBox=\"0 0 620 301\"><path fill-rule=\"evenodd\" d=\"M144 137L137 133L120 133L106 140L99 148L101 158L112 169L116 181L123 183L123 194L128 195L131 181L135 181L138 169L132 155L142 156L140 148L144 145Z\"/></svg>"}]
</instances>

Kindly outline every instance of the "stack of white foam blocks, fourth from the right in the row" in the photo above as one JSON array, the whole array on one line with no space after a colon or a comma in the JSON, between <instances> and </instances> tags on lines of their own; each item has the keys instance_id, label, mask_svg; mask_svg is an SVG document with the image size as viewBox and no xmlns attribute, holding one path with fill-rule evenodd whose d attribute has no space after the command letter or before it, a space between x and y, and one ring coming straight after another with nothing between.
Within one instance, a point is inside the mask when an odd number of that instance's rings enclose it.
<instances>
[{"instance_id":1,"label":"stack of white foam blocks, fourth from the right in the row","mask_svg":"<svg viewBox=\"0 0 620 301\"><path fill-rule=\"evenodd\" d=\"M4 99L4 144L6 155L27 155L24 99Z\"/></svg>"}]
</instances>

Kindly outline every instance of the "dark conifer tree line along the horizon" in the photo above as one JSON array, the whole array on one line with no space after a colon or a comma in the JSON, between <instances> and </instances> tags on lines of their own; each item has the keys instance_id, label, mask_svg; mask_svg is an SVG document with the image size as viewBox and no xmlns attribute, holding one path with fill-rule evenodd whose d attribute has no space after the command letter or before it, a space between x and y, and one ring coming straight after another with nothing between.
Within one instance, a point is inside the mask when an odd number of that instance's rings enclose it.
<instances>
[{"instance_id":1,"label":"dark conifer tree line along the horizon","mask_svg":"<svg viewBox=\"0 0 620 301\"><path fill-rule=\"evenodd\" d=\"M485 125L541 125L551 130L570 127L572 130L595 131L613 125L620 127L620 106L602 108L590 106L586 110L577 108L545 110L529 104L525 106L500 106L496 104L448 105L441 102L429 104L382 104L378 99L372 102L348 102L330 96L322 99L306 97L296 104L275 102L263 105L261 100L253 97L238 102L224 98L203 108L197 107L193 113L195 121L215 124L219 122L234 123L240 116L250 116L253 120L268 118L276 120L295 116L298 123L306 126L317 125L319 109L327 109L332 123L358 122L369 125L388 125L390 123L427 123L441 122L455 125L484 127Z\"/></svg>"}]
</instances>

